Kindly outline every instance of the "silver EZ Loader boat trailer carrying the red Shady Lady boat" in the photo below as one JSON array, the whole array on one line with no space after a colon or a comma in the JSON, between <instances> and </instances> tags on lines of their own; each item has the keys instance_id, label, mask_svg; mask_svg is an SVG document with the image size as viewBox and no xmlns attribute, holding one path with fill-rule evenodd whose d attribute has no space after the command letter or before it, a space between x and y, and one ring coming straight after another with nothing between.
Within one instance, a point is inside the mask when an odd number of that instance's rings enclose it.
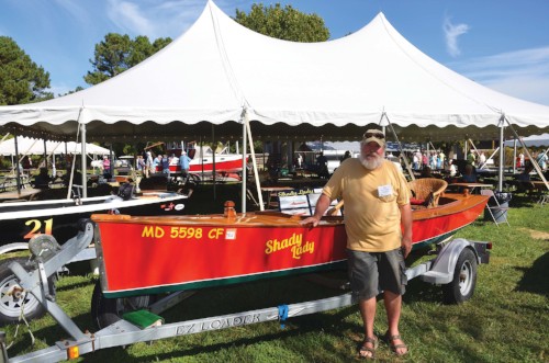
<instances>
[{"instance_id":1,"label":"silver EZ Loader boat trailer carrying the red Shady Lady boat","mask_svg":"<svg viewBox=\"0 0 549 363\"><path fill-rule=\"evenodd\" d=\"M356 303L351 293L345 293L339 296L305 303L281 305L195 320L171 324L157 321L159 324L153 324L145 328L121 318L94 333L82 331L55 302L55 296L52 296L49 291L48 277L69 263L81 251L86 250L94 241L94 231L96 226L93 222L82 219L80 220L78 235L63 246L57 245L55 239L53 241L48 240L47 237L43 237L36 243L30 246L35 265L33 270L27 271L18 262L12 262L9 265L19 280L20 287L27 294L32 294L71 338L59 340L46 349L9 358L5 348L5 333L0 331L0 363L59 362L76 359L100 349L123 347L142 341L154 341L264 321L278 320L283 324L285 319L291 317L336 309ZM436 258L407 269L406 276L408 280L419 276L426 282L444 285L445 300L461 303L472 296L475 285L477 265L489 262L490 249L490 242L469 241L461 238L452 239L437 245L437 250L435 251ZM193 291L171 293L149 305L146 311L156 316L193 293ZM158 318L161 320L159 316Z\"/></svg>"}]
</instances>

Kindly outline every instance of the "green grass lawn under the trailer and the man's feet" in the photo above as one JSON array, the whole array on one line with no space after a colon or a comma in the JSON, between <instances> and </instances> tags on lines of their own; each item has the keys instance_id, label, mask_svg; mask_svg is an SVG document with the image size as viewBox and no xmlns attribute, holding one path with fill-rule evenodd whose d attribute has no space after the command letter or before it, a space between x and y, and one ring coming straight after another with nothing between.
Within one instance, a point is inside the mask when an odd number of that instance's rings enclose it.
<instances>
[{"instance_id":1,"label":"green grass lawn under the trailer and the man's feet","mask_svg":"<svg viewBox=\"0 0 549 363\"><path fill-rule=\"evenodd\" d=\"M479 266L471 300L442 305L439 286L413 280L406 295L401 332L410 354L397 359L383 343L377 352L386 362L548 362L549 361L549 206L515 196L511 227L479 219L458 237L493 242L490 264ZM183 263L183 261L181 262ZM94 277L82 265L58 282L59 304L82 329L93 331L89 316ZM340 276L343 272L335 272ZM340 292L304 277L273 280L204 290L167 311L167 322L290 304ZM46 316L25 326L2 327L14 341L11 356L55 343L66 333ZM378 304L376 332L386 330ZM82 362L352 362L362 339L357 306L180 338L100 350Z\"/></svg>"}]
</instances>

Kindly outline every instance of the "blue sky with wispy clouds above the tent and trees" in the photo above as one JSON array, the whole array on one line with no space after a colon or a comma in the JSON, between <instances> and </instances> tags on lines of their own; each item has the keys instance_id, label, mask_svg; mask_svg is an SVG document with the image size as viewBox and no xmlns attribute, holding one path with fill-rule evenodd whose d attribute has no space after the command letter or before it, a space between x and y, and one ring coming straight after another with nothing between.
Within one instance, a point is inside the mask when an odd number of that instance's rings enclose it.
<instances>
[{"instance_id":1,"label":"blue sky with wispy clouds above the tent and trees","mask_svg":"<svg viewBox=\"0 0 549 363\"><path fill-rule=\"evenodd\" d=\"M259 1L217 0L231 16ZM549 105L549 1L546 0L293 0L324 19L332 38L382 11L411 43L442 65L496 89ZM51 75L55 94L88 87L94 45L113 32L178 37L206 0L0 0L0 35Z\"/></svg>"}]
</instances>

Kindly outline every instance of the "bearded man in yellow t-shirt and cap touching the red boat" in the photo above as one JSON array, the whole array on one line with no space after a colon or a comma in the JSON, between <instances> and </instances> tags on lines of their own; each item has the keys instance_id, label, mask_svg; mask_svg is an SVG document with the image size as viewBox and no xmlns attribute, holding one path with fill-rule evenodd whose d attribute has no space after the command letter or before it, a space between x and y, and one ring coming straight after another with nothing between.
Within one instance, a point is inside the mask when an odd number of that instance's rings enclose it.
<instances>
[{"instance_id":1,"label":"bearded man in yellow t-shirt and cap touching the red boat","mask_svg":"<svg viewBox=\"0 0 549 363\"><path fill-rule=\"evenodd\" d=\"M365 325L359 354L368 359L373 359L378 347L373 321L380 291L389 326L384 338L394 353L407 353L399 320L406 284L404 258L412 249L412 208L406 180L383 158L384 147L381 131L367 131L360 157L349 158L337 168L323 189L314 216L302 222L315 227L333 200L345 201L349 280Z\"/></svg>"}]
</instances>

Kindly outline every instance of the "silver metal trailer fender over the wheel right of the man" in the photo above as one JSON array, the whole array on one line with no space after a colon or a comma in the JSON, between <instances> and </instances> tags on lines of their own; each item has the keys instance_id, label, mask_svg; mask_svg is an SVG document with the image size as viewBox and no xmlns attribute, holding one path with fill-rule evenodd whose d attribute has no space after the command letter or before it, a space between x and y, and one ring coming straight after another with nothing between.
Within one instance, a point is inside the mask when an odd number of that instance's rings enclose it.
<instances>
[{"instance_id":1,"label":"silver metal trailer fender over the wheel right of the man","mask_svg":"<svg viewBox=\"0 0 549 363\"><path fill-rule=\"evenodd\" d=\"M464 238L456 238L442 247L433 262L432 269L421 276L422 280L437 285L450 283L458 258L466 248L471 249L479 260L479 253L473 242Z\"/></svg>"}]
</instances>

